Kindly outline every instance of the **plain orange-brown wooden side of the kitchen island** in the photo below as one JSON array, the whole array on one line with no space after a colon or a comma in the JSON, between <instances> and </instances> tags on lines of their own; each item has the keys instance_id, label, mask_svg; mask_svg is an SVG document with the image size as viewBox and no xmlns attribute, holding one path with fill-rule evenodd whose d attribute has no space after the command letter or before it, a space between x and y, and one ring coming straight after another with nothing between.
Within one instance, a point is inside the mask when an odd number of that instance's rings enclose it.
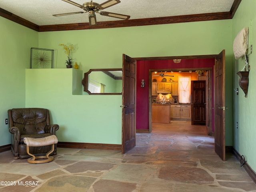
<instances>
[{"instance_id":1,"label":"plain orange-brown wooden side of the kitchen island","mask_svg":"<svg viewBox=\"0 0 256 192\"><path fill-rule=\"evenodd\" d=\"M170 123L171 104L152 104L152 123Z\"/></svg>"}]
</instances>

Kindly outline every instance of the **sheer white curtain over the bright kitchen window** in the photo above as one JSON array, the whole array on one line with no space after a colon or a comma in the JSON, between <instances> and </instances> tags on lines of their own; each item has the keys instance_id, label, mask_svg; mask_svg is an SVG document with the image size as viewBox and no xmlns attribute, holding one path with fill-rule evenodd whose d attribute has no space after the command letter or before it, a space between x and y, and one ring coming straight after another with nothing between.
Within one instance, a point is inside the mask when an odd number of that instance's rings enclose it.
<instances>
[{"instance_id":1,"label":"sheer white curtain over the bright kitchen window","mask_svg":"<svg viewBox=\"0 0 256 192\"><path fill-rule=\"evenodd\" d=\"M191 76L178 76L179 103L190 103Z\"/></svg>"}]
</instances>

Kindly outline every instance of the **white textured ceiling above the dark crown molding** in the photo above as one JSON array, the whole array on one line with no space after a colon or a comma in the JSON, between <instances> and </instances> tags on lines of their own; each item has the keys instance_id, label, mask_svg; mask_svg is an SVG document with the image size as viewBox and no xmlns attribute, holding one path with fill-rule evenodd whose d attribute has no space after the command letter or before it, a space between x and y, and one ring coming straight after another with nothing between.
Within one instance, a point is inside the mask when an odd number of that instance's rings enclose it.
<instances>
[{"instance_id":1,"label":"white textured ceiling above the dark crown molding","mask_svg":"<svg viewBox=\"0 0 256 192\"><path fill-rule=\"evenodd\" d=\"M78 4L90 0L72 0ZM93 0L101 4L106 0ZM234 0L121 0L104 11L130 15L130 20L189 14L229 12ZM0 0L0 8L39 26L87 23L88 13L54 17L52 14L81 12L62 0ZM96 14L98 22L121 20Z\"/></svg>"}]
</instances>

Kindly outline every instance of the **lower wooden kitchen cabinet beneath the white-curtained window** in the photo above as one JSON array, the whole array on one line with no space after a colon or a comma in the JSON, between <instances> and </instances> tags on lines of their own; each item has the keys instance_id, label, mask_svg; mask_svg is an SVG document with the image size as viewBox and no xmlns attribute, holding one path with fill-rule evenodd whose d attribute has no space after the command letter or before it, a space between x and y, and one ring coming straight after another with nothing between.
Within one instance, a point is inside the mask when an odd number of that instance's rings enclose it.
<instances>
[{"instance_id":1,"label":"lower wooden kitchen cabinet beneath the white-curtained window","mask_svg":"<svg viewBox=\"0 0 256 192\"><path fill-rule=\"evenodd\" d=\"M191 105L171 105L170 115L171 119L191 120Z\"/></svg>"}]
</instances>

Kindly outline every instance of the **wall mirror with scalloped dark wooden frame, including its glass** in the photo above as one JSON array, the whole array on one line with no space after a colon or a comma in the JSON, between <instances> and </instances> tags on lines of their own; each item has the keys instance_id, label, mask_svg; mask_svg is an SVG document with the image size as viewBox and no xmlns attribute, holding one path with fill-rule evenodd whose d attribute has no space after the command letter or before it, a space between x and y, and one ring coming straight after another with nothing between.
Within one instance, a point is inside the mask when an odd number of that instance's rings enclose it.
<instances>
[{"instance_id":1,"label":"wall mirror with scalloped dark wooden frame, including its glass","mask_svg":"<svg viewBox=\"0 0 256 192\"><path fill-rule=\"evenodd\" d=\"M98 95L122 94L122 68L90 69L82 80L84 91Z\"/></svg>"}]
</instances>

